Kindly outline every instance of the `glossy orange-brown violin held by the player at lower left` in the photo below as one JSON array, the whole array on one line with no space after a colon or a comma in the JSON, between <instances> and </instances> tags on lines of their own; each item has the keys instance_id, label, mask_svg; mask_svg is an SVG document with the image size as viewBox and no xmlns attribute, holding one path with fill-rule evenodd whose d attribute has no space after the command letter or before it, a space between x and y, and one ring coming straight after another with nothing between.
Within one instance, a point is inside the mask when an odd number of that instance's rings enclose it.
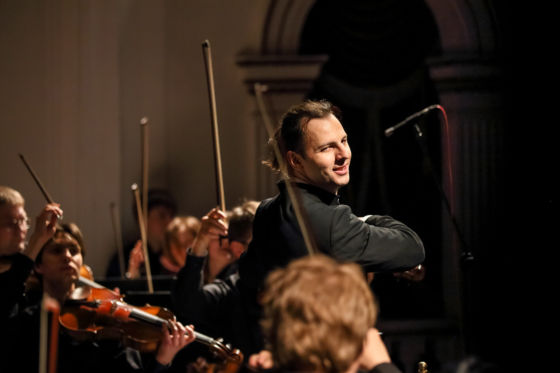
<instances>
[{"instance_id":1,"label":"glossy orange-brown violin held by the player at lower left","mask_svg":"<svg viewBox=\"0 0 560 373\"><path fill-rule=\"evenodd\" d=\"M78 340L116 339L140 352L155 352L162 338L162 326L175 315L164 307L137 307L124 302L124 296L91 280L80 277L77 294L63 305L61 327ZM243 354L221 340L194 332L195 341L209 347L220 361L213 372L235 373Z\"/></svg>"}]
</instances>

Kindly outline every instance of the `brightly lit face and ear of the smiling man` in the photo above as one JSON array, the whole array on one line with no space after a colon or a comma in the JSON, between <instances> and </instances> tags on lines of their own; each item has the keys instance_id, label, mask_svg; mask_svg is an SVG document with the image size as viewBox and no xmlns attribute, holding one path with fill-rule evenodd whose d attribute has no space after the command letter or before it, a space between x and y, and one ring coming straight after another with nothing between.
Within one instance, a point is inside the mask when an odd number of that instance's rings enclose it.
<instances>
[{"instance_id":1,"label":"brightly lit face and ear of the smiling man","mask_svg":"<svg viewBox=\"0 0 560 373\"><path fill-rule=\"evenodd\" d=\"M304 136L304 156L289 152L294 176L337 194L350 181L352 151L340 121L332 114L311 119Z\"/></svg>"}]
</instances>

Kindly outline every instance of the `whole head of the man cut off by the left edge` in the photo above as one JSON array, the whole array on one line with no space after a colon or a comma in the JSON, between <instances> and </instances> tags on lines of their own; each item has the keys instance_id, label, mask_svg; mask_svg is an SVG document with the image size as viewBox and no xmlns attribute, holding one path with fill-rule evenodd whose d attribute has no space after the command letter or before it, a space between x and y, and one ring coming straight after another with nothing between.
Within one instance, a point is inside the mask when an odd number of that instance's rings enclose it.
<instances>
[{"instance_id":1,"label":"whole head of the man cut off by the left edge","mask_svg":"<svg viewBox=\"0 0 560 373\"><path fill-rule=\"evenodd\" d=\"M25 200L10 187L0 186L0 256L13 255L25 248L29 220Z\"/></svg>"}]
</instances>

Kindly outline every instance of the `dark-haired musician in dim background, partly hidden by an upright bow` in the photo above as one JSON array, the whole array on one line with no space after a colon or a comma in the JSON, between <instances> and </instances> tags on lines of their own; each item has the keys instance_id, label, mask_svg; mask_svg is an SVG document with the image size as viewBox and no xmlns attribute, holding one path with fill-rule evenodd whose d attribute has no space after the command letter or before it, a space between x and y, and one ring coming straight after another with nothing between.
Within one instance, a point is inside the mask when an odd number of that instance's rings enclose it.
<instances>
[{"instance_id":1,"label":"dark-haired musician in dim background, partly hidden by an upright bow","mask_svg":"<svg viewBox=\"0 0 560 373\"><path fill-rule=\"evenodd\" d=\"M133 205L134 218L138 218L136 204ZM163 189L150 189L148 191L148 219L146 235L148 239L148 253L150 270L152 275L164 274L165 270L160 263L160 256L165 246L165 232L167 226L177 214L177 204L169 192ZM144 255L142 241L136 240L124 249L124 257L127 259L126 277L135 278L144 276ZM118 253L115 253L106 277L120 277Z\"/></svg>"}]
</instances>

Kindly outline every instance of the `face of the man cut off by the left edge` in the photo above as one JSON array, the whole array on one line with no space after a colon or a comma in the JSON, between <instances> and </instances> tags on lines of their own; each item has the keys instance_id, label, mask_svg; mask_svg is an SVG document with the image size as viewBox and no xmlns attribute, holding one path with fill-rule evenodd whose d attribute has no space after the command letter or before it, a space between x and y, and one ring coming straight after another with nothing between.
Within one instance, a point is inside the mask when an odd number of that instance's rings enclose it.
<instances>
[{"instance_id":1,"label":"face of the man cut off by the left edge","mask_svg":"<svg viewBox=\"0 0 560 373\"><path fill-rule=\"evenodd\" d=\"M28 229L27 214L23 206L0 206L0 256L23 251Z\"/></svg>"}]
</instances>

